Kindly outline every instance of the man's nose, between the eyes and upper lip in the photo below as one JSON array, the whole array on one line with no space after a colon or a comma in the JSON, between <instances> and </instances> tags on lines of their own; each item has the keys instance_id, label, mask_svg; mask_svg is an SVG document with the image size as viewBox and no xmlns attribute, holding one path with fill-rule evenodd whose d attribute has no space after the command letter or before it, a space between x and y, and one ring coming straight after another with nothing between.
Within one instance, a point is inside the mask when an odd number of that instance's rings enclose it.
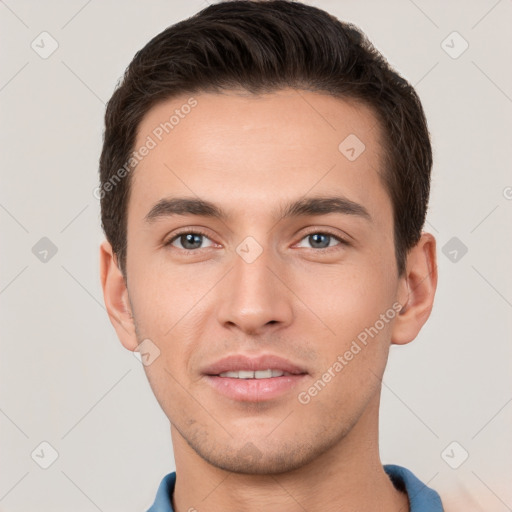
<instances>
[{"instance_id":1,"label":"man's nose, between the eyes and upper lip","mask_svg":"<svg viewBox=\"0 0 512 512\"><path fill-rule=\"evenodd\" d=\"M270 249L254 261L244 259L243 252L234 252L233 268L223 280L218 309L221 325L258 335L292 322L293 292L286 286L282 263Z\"/></svg>"}]
</instances>

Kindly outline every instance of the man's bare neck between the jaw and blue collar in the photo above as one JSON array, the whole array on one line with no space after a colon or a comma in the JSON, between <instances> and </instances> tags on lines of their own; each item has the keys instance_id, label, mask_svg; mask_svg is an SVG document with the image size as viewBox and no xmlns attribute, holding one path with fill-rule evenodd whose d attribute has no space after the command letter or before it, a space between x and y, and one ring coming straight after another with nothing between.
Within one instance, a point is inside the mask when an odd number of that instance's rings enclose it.
<instances>
[{"instance_id":1,"label":"man's bare neck between the jaw and blue collar","mask_svg":"<svg viewBox=\"0 0 512 512\"><path fill-rule=\"evenodd\" d=\"M349 434L312 462L268 475L225 471L203 460L171 426L176 462L175 512L409 511L379 458L378 400Z\"/></svg>"}]
</instances>

